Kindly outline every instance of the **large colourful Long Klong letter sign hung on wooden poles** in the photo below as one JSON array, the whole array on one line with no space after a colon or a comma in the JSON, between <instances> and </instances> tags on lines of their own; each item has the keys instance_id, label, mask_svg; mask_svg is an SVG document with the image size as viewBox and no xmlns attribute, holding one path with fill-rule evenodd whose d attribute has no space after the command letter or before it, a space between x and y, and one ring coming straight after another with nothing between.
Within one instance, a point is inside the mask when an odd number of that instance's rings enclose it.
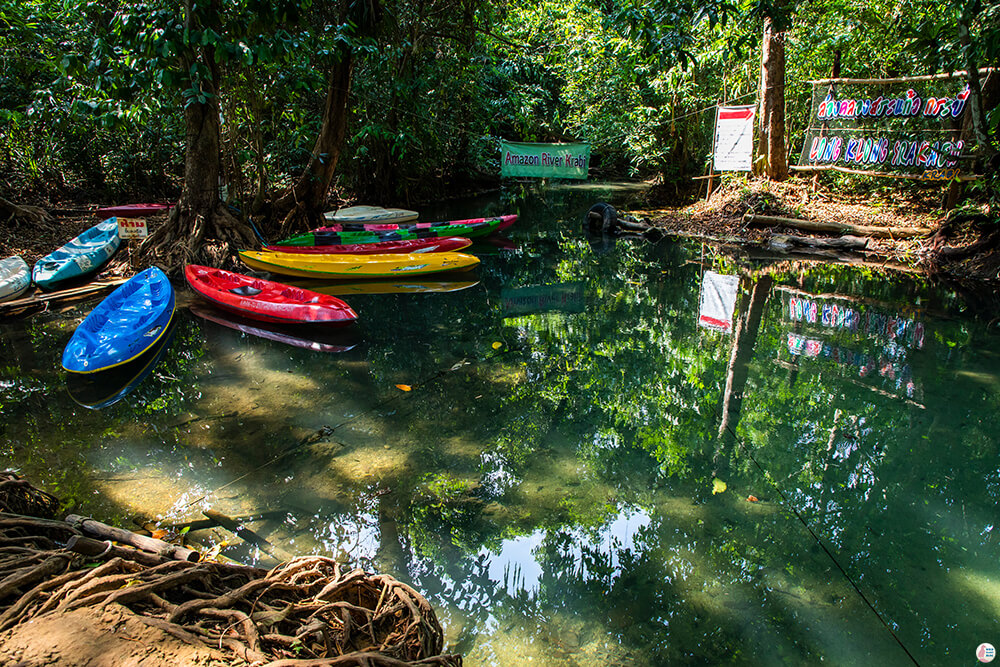
<instances>
[{"instance_id":1,"label":"large colourful Long Klong letter sign hung on wooden poles","mask_svg":"<svg viewBox=\"0 0 1000 667\"><path fill-rule=\"evenodd\" d=\"M968 98L959 77L814 84L799 166L956 178Z\"/></svg>"}]
</instances>

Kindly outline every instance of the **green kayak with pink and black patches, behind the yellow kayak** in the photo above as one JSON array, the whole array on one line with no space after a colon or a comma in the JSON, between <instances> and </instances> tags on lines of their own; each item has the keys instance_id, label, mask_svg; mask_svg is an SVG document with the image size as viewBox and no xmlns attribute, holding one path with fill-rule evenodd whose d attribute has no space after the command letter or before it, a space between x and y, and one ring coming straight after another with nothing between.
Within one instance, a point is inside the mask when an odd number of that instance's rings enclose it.
<instances>
[{"instance_id":1,"label":"green kayak with pink and black patches, behind the yellow kayak","mask_svg":"<svg viewBox=\"0 0 1000 667\"><path fill-rule=\"evenodd\" d=\"M514 224L517 215L496 218L473 218L448 222L415 222L398 224L341 223L319 227L311 232L298 234L275 245L318 246L341 245L345 243L376 243L379 241L400 241L405 239L426 239L445 236L478 238L487 236Z\"/></svg>"}]
</instances>

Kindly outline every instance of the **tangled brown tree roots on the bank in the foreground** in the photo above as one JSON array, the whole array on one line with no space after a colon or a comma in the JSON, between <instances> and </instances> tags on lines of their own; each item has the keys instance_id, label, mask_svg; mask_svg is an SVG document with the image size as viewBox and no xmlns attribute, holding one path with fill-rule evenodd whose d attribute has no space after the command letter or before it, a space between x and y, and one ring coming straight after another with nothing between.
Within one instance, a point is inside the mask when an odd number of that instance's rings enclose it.
<instances>
[{"instance_id":1,"label":"tangled brown tree roots on the bank in the foreground","mask_svg":"<svg viewBox=\"0 0 1000 667\"><path fill-rule=\"evenodd\" d=\"M65 522L0 511L0 632L47 615L120 605L187 644L251 665L462 663L441 654L443 632L427 600L388 575L320 556L271 571L182 560L149 566L112 557L110 549L88 557L59 546L74 535Z\"/></svg>"}]
</instances>

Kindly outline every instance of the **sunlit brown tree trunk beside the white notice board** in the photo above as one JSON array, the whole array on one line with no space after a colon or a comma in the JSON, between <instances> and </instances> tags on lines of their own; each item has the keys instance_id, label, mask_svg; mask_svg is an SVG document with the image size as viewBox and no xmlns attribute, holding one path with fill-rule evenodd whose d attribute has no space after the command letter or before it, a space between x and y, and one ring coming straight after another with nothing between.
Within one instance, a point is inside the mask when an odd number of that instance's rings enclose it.
<instances>
[{"instance_id":1,"label":"sunlit brown tree trunk beside the white notice board","mask_svg":"<svg viewBox=\"0 0 1000 667\"><path fill-rule=\"evenodd\" d=\"M760 60L760 137L758 153L764 157L764 173L773 181L788 178L785 156L785 33L764 19L764 41Z\"/></svg>"}]
</instances>

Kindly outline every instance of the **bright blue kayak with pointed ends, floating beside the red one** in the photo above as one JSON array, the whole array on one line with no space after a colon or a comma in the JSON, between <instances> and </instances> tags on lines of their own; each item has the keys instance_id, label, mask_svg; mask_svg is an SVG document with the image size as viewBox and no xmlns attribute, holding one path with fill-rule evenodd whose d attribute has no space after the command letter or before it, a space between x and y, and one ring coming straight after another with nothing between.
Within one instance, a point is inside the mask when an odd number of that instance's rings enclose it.
<instances>
[{"instance_id":1,"label":"bright blue kayak with pointed ends, floating beside the red one","mask_svg":"<svg viewBox=\"0 0 1000 667\"><path fill-rule=\"evenodd\" d=\"M174 316L174 288L154 267L108 295L73 332L63 368L95 373L135 359L167 331Z\"/></svg>"}]
</instances>

